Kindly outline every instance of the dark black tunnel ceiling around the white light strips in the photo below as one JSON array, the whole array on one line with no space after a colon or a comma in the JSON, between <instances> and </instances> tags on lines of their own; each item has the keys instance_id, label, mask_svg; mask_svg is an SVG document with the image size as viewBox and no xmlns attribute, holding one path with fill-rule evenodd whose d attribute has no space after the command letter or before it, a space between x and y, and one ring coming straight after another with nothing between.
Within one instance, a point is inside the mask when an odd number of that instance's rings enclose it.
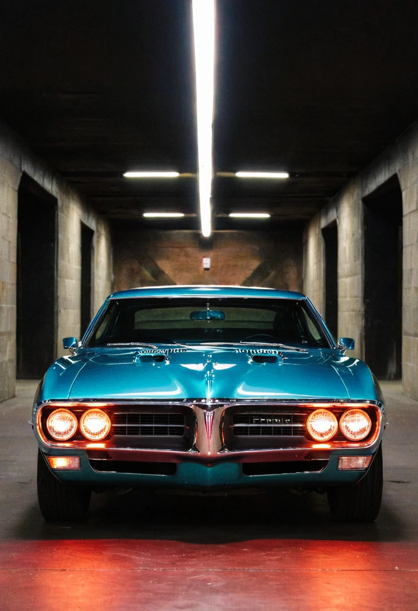
<instances>
[{"instance_id":1,"label":"dark black tunnel ceiling around the white light strips","mask_svg":"<svg viewBox=\"0 0 418 611\"><path fill-rule=\"evenodd\" d=\"M216 10L215 229L243 227L224 216L233 211L271 213L257 229L301 226L417 119L418 3L218 0ZM5 122L109 218L196 215L190 2L4 0L1 13ZM122 177L132 169L181 176ZM249 169L290 178L232 175Z\"/></svg>"}]
</instances>

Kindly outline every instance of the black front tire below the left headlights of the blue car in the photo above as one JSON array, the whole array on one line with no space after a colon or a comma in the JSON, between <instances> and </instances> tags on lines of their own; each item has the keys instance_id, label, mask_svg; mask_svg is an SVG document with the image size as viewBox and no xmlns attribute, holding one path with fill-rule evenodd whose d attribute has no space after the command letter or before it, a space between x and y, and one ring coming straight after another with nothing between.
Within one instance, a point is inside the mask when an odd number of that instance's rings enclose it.
<instances>
[{"instance_id":1,"label":"black front tire below the left headlights of the blue car","mask_svg":"<svg viewBox=\"0 0 418 611\"><path fill-rule=\"evenodd\" d=\"M46 522L76 522L89 511L90 488L63 484L51 473L38 450L38 502Z\"/></svg>"}]
</instances>

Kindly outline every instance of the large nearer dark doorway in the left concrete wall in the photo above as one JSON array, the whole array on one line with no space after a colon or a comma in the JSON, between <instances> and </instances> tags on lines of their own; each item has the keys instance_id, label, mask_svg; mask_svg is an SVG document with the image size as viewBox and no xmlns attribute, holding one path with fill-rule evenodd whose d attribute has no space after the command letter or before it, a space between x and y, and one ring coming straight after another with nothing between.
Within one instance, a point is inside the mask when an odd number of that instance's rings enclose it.
<instances>
[{"instance_id":1,"label":"large nearer dark doorway in the left concrete wall","mask_svg":"<svg viewBox=\"0 0 418 611\"><path fill-rule=\"evenodd\" d=\"M55 357L57 200L28 175L18 190L16 376L42 378Z\"/></svg>"}]
</instances>

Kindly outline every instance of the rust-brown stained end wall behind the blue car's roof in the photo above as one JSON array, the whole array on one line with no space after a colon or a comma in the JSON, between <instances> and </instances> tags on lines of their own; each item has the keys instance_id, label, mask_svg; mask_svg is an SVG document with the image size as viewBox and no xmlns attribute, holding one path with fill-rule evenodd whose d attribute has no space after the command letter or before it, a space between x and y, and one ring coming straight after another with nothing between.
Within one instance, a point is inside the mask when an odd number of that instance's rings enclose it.
<instances>
[{"instance_id":1,"label":"rust-brown stained end wall behind the blue car's roof","mask_svg":"<svg viewBox=\"0 0 418 611\"><path fill-rule=\"evenodd\" d=\"M169 284L226 284L301 290L302 232L150 231L131 222L112 229L114 290ZM211 269L202 269L202 258Z\"/></svg>"}]
</instances>

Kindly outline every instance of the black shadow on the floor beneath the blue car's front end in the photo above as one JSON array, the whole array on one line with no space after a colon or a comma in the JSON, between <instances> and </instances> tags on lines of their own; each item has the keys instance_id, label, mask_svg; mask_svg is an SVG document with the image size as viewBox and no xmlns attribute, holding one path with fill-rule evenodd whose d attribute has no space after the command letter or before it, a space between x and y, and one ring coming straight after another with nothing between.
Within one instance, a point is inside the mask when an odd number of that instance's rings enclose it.
<instances>
[{"instance_id":1,"label":"black shadow on the floor beneath the blue car's front end","mask_svg":"<svg viewBox=\"0 0 418 611\"><path fill-rule=\"evenodd\" d=\"M372 524L332 520L325 495L288 490L234 496L188 496L134 490L94 494L87 520L47 524L39 509L16 524L19 540L131 539L194 544L247 540L402 541L402 521L383 504Z\"/></svg>"}]
</instances>

